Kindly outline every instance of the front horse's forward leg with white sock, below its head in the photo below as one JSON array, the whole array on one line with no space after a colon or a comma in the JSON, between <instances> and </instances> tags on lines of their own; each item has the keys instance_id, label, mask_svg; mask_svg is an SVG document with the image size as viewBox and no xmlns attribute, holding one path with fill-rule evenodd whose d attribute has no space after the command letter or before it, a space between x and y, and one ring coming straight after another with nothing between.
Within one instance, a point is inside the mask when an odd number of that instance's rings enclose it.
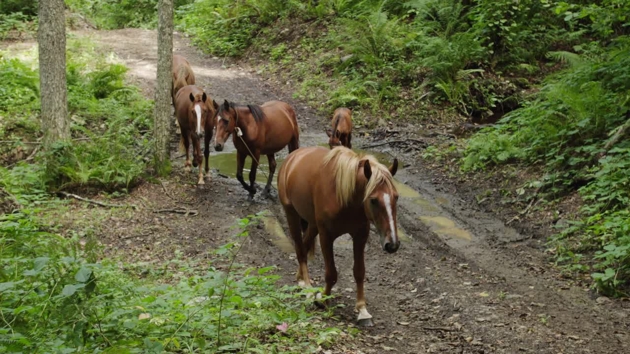
<instances>
[{"instance_id":1,"label":"front horse's forward leg with white sock, below its head","mask_svg":"<svg viewBox=\"0 0 630 354\"><path fill-rule=\"evenodd\" d=\"M357 233L352 234L352 249L354 253L353 273L357 283L357 305L355 312L358 312L357 321L359 326L372 327L372 315L367 312L363 282L365 279L365 243L370 233L369 224Z\"/></svg>"}]
</instances>

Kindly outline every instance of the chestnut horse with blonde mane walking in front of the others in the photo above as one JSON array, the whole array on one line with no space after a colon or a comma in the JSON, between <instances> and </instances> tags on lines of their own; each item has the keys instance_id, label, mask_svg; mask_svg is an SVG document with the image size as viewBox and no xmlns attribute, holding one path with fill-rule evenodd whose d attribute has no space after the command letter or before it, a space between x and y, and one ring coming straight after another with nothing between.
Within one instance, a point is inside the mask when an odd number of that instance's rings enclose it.
<instances>
[{"instance_id":1,"label":"chestnut horse with blonde mane walking in front of the others","mask_svg":"<svg viewBox=\"0 0 630 354\"><path fill-rule=\"evenodd\" d=\"M333 243L337 237L350 234L357 282L355 311L362 326L374 325L364 294L364 250L370 223L378 230L384 251L394 253L400 246L396 226L398 191L392 178L397 169L397 159L386 168L374 156L361 156L346 147L306 147L289 154L278 172L278 196L299 262L299 284L311 287L307 255L314 252L319 234L326 266L324 294L330 295L337 282Z\"/></svg>"}]
</instances>

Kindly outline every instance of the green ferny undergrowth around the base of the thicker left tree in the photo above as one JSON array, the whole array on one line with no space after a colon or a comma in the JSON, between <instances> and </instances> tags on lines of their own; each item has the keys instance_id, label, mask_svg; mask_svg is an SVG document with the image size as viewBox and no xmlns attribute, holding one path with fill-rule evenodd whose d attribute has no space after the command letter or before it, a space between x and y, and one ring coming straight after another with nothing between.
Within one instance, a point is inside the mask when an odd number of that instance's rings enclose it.
<instances>
[{"instance_id":1,"label":"green ferny undergrowth around the base of the thicker left tree","mask_svg":"<svg viewBox=\"0 0 630 354\"><path fill-rule=\"evenodd\" d=\"M37 164L20 166L38 176L31 180L33 188L125 191L137 183L149 154L152 106L139 89L125 84L127 68L108 62L89 40L69 40L67 87L73 139L57 144L47 152L56 158L48 159L38 152L41 132L35 55L24 54L24 60L0 59L4 161L11 166L32 155Z\"/></svg>"}]
</instances>

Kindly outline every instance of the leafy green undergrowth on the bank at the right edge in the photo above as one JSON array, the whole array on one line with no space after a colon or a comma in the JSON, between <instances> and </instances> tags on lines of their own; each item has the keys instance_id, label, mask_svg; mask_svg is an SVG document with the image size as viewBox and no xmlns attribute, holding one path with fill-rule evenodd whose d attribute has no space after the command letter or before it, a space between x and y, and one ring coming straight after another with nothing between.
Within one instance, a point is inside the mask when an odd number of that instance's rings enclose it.
<instances>
[{"instance_id":1,"label":"leafy green undergrowth on the bank at the right edge","mask_svg":"<svg viewBox=\"0 0 630 354\"><path fill-rule=\"evenodd\" d=\"M630 280L625 221L630 144L620 140L609 151L603 149L630 117L629 43L619 37L606 50L552 52L550 57L570 67L549 77L532 101L474 135L463 164L464 169L515 161L542 164L547 173L543 191L549 197L579 191L584 219L553 243L564 261L575 261L577 251L597 251L593 267L604 273L593 273L593 278L607 294L622 294ZM575 238L580 241L572 244Z\"/></svg>"}]
</instances>

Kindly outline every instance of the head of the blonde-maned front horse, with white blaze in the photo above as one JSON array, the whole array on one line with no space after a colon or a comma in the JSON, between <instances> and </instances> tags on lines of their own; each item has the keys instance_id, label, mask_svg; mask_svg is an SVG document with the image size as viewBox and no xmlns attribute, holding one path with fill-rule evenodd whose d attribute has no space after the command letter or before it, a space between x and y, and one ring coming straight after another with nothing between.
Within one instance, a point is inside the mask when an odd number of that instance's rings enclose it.
<instances>
[{"instance_id":1,"label":"head of the blonde-maned front horse, with white blaze","mask_svg":"<svg viewBox=\"0 0 630 354\"><path fill-rule=\"evenodd\" d=\"M389 173L384 171L384 166L371 166L370 161L365 159L359 164L359 174L367 180L364 200L365 215L374 224L381 236L381 247L387 253L398 251L400 240L398 239L398 226L396 224L396 202L398 202L398 191L392 183L392 176L398 170L398 159L394 159L392 166L389 166ZM376 178L373 169L378 171L381 178ZM389 176L387 176L389 174ZM384 175L384 176L383 176ZM358 176L361 178L361 176Z\"/></svg>"}]
</instances>

